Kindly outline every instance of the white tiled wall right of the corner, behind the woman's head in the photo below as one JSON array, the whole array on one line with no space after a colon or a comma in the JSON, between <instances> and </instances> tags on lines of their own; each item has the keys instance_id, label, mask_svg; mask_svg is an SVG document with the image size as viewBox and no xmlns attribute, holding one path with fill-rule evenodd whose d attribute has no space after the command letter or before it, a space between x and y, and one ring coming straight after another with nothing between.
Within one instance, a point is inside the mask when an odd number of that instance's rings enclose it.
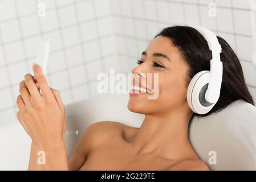
<instances>
[{"instance_id":1,"label":"white tiled wall right of the corner, behind the woman's head","mask_svg":"<svg viewBox=\"0 0 256 182\"><path fill-rule=\"evenodd\" d=\"M209 15L210 3L216 5L216 16ZM131 72L148 42L162 28L176 24L204 26L227 40L237 53L250 92L256 97L256 70L251 61L253 30L247 1L112 0L110 7L118 60L124 62L122 71Z\"/></svg>"}]
</instances>

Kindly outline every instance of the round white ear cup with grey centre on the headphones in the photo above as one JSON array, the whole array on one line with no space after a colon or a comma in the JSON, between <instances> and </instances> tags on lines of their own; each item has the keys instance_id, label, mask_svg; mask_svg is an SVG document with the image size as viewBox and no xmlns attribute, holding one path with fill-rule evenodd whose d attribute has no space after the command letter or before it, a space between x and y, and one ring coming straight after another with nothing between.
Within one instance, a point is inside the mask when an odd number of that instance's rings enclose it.
<instances>
[{"instance_id":1,"label":"round white ear cup with grey centre on the headphones","mask_svg":"<svg viewBox=\"0 0 256 182\"><path fill-rule=\"evenodd\" d=\"M197 114L208 113L216 103L205 100L205 93L209 84L210 71L198 72L189 82L186 99L190 109Z\"/></svg>"}]
</instances>

